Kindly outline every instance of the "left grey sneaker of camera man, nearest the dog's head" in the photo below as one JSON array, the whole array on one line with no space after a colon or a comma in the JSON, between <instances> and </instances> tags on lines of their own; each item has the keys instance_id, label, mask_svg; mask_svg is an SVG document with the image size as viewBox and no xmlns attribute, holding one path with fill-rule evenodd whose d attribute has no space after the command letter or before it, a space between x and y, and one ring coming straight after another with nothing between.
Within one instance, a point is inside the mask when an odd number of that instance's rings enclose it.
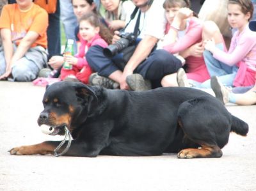
<instances>
[{"instance_id":1,"label":"left grey sneaker of camera man, nearest the dog's head","mask_svg":"<svg viewBox=\"0 0 256 191\"><path fill-rule=\"evenodd\" d=\"M107 89L119 89L119 84L108 77L98 75L98 73L92 73L89 78L89 84L92 86L102 86Z\"/></svg>"}]
</instances>

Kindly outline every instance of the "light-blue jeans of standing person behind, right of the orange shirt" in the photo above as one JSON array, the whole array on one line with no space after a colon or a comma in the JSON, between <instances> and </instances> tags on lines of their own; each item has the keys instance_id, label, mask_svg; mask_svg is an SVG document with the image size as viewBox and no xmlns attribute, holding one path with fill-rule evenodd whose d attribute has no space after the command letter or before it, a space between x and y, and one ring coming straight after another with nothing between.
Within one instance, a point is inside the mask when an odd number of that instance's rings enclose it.
<instances>
[{"instance_id":1,"label":"light-blue jeans of standing person behind, right of the orange shirt","mask_svg":"<svg viewBox=\"0 0 256 191\"><path fill-rule=\"evenodd\" d=\"M74 54L77 53L76 45L76 34L75 29L77 24L77 19L73 11L73 6L70 0L60 1L60 19L64 27L66 34L66 39L74 40Z\"/></svg>"}]
</instances>

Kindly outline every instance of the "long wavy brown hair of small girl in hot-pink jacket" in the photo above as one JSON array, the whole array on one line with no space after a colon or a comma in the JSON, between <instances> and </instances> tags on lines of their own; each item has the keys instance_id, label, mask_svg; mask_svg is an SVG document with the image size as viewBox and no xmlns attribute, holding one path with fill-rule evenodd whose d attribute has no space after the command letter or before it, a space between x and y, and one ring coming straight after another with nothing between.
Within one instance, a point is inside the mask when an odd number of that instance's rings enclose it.
<instances>
[{"instance_id":1,"label":"long wavy brown hair of small girl in hot-pink jacket","mask_svg":"<svg viewBox=\"0 0 256 191\"><path fill-rule=\"evenodd\" d=\"M104 24L102 24L102 21L99 19L99 16L95 13L86 13L84 14L80 19L79 19L79 23L82 20L86 20L88 21L90 24L92 24L92 26L94 27L100 27L100 31L99 34L100 36L108 43L111 44L112 38L113 38L113 34L109 31L108 27L104 26Z\"/></svg>"}]
</instances>

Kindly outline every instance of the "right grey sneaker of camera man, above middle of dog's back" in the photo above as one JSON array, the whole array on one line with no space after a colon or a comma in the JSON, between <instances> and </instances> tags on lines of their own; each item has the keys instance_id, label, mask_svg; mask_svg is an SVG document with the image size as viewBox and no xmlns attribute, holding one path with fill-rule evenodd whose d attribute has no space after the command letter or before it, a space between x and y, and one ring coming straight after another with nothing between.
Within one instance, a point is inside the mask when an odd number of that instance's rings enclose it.
<instances>
[{"instance_id":1,"label":"right grey sneaker of camera man, above middle of dog's back","mask_svg":"<svg viewBox=\"0 0 256 191\"><path fill-rule=\"evenodd\" d=\"M145 91L152 88L150 81L143 79L142 75L139 73L128 75L126 82L130 89L134 91Z\"/></svg>"}]
</instances>

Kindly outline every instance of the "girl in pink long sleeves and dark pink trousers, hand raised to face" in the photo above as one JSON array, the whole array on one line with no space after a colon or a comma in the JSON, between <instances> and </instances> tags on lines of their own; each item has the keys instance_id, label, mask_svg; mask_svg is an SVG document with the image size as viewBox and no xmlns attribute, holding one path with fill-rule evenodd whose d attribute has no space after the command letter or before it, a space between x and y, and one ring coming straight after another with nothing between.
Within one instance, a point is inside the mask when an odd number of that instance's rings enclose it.
<instances>
[{"instance_id":1,"label":"girl in pink long sleeves and dark pink trousers, hand raised to face","mask_svg":"<svg viewBox=\"0 0 256 191\"><path fill-rule=\"evenodd\" d=\"M189 1L166 0L163 6L168 20L163 49L171 54L179 53L185 58L188 79L204 82L210 76L203 57L202 21L193 17ZM166 75L162 79L162 86L178 86L176 78L177 73Z\"/></svg>"}]
</instances>

